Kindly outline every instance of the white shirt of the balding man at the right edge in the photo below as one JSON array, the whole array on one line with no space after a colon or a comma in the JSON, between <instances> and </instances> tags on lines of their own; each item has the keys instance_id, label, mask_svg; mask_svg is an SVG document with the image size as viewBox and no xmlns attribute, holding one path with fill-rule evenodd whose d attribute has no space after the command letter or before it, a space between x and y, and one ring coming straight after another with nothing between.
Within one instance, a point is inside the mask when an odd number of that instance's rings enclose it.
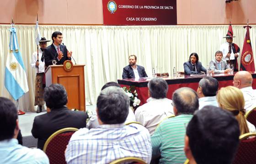
<instances>
[{"instance_id":1,"label":"white shirt of the balding man at the right edge","mask_svg":"<svg viewBox=\"0 0 256 164\"><path fill-rule=\"evenodd\" d=\"M245 110L246 112L256 107L256 90L252 87L241 88L244 98L245 98Z\"/></svg>"}]
</instances>

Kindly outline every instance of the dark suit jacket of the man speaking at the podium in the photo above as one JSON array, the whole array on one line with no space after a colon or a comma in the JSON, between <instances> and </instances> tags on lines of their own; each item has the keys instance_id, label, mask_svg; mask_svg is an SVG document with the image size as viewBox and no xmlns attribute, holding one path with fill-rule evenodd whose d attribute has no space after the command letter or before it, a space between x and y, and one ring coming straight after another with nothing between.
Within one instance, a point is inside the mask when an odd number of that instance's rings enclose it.
<instances>
[{"instance_id":1,"label":"dark suit jacket of the man speaking at the podium","mask_svg":"<svg viewBox=\"0 0 256 164\"><path fill-rule=\"evenodd\" d=\"M46 67L48 67L49 65L53 65L52 63L53 59L56 60L56 65L61 65L66 60L71 60L71 57L68 58L67 47L65 45L59 45L59 48L60 48L60 51L62 51L63 53L63 57L60 59L60 61L57 59L58 53L55 47L53 46L53 44L51 44L50 46L46 47L46 49L44 49L43 54L44 54L44 63Z\"/></svg>"}]
</instances>

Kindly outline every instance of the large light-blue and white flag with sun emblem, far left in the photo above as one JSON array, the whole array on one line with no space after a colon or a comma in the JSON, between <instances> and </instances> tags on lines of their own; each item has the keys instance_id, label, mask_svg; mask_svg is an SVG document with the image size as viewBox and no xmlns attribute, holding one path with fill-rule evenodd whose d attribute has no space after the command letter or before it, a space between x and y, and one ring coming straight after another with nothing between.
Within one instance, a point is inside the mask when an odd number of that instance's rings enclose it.
<instances>
[{"instance_id":1,"label":"large light-blue and white flag with sun emblem, far left","mask_svg":"<svg viewBox=\"0 0 256 164\"><path fill-rule=\"evenodd\" d=\"M16 36L16 29L11 27L10 51L5 66L5 87L14 100L28 92L27 75L22 61Z\"/></svg>"}]
</instances>

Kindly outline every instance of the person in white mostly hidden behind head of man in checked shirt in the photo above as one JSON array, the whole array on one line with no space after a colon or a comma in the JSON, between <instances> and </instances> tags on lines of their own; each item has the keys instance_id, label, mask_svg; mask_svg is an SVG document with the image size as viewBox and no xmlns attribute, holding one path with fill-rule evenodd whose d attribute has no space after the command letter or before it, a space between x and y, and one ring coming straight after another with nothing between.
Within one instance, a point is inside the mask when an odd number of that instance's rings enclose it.
<instances>
[{"instance_id":1,"label":"person in white mostly hidden behind head of man in checked shirt","mask_svg":"<svg viewBox=\"0 0 256 164\"><path fill-rule=\"evenodd\" d=\"M119 84L117 84L117 82L107 82L102 88L101 91L103 89L105 89L106 87L110 87L110 86L116 86L116 87L120 87ZM133 122L136 121L133 110L131 108L129 108L129 114L125 120L125 123L129 123L129 122ZM90 120L88 121L88 123L86 124L86 127L91 129L91 128L97 128L99 126L99 121L98 121L98 117L97 114L94 113Z\"/></svg>"}]
</instances>

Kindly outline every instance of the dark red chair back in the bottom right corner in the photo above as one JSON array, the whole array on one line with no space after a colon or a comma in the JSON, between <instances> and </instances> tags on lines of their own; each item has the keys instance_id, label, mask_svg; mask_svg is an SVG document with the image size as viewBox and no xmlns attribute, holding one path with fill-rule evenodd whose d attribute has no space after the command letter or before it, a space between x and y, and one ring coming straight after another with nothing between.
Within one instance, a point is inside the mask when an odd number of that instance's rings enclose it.
<instances>
[{"instance_id":1,"label":"dark red chair back in the bottom right corner","mask_svg":"<svg viewBox=\"0 0 256 164\"><path fill-rule=\"evenodd\" d=\"M240 135L240 143L233 164L256 163L256 133Z\"/></svg>"}]
</instances>

